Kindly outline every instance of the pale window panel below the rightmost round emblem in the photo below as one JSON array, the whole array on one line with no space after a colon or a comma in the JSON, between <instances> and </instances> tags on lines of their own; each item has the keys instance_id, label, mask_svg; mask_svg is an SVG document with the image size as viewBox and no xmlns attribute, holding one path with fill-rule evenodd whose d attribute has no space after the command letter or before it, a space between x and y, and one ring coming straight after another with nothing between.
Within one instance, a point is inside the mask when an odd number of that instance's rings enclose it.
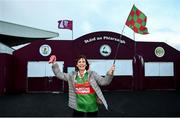
<instances>
[{"instance_id":1,"label":"pale window panel below the rightmost round emblem","mask_svg":"<svg viewBox=\"0 0 180 118\"><path fill-rule=\"evenodd\" d=\"M174 63L145 62L145 76L174 76Z\"/></svg>"}]
</instances>

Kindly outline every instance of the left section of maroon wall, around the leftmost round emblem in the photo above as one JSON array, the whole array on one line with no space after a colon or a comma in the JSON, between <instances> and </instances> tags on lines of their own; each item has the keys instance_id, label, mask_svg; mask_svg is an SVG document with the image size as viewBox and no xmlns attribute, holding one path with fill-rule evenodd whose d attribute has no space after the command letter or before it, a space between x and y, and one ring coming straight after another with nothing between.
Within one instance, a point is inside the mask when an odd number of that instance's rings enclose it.
<instances>
[{"instance_id":1,"label":"left section of maroon wall, around the leftmost round emblem","mask_svg":"<svg viewBox=\"0 0 180 118\"><path fill-rule=\"evenodd\" d=\"M57 56L58 61L66 61L65 67L72 66L72 41L50 41L39 40L27 45L14 52L16 62L19 66L17 71L16 87L18 90L24 91L62 91L63 81L54 78L52 81L48 77L27 77L28 61L48 61L50 56L44 57L40 55L39 48L43 44L48 44L52 48L52 53Z\"/></svg>"}]
</instances>

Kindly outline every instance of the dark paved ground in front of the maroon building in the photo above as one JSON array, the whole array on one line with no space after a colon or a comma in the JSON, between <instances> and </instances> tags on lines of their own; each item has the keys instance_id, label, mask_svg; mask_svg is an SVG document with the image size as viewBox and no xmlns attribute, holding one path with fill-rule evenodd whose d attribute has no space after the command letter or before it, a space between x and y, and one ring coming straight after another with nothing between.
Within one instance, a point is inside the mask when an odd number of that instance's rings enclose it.
<instances>
[{"instance_id":1,"label":"dark paved ground in front of the maroon building","mask_svg":"<svg viewBox=\"0 0 180 118\"><path fill-rule=\"evenodd\" d=\"M179 91L104 92L109 111L100 106L99 116L180 116ZM67 93L28 93L0 96L0 116L68 117Z\"/></svg>"}]
</instances>

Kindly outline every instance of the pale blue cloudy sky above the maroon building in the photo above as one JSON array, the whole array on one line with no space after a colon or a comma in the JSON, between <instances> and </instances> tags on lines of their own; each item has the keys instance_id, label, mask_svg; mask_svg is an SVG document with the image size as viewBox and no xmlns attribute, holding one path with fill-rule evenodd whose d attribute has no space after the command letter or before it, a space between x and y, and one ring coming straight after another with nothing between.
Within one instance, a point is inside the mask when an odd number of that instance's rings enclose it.
<instances>
[{"instance_id":1,"label":"pale blue cloudy sky above the maroon building","mask_svg":"<svg viewBox=\"0 0 180 118\"><path fill-rule=\"evenodd\" d=\"M180 51L179 0L0 0L0 20L58 32L71 40L71 30L58 29L58 20L73 20L73 38L96 31L121 33L133 6L147 16L148 35L136 41L165 42ZM127 26L124 34L133 38Z\"/></svg>"}]
</instances>

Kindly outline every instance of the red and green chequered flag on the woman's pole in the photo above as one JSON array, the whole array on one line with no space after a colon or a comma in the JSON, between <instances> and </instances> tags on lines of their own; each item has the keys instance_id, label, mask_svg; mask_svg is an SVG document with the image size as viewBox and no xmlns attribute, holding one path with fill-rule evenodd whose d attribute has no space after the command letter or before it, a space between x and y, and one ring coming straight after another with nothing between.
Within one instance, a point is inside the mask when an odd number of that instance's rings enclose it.
<instances>
[{"instance_id":1,"label":"red and green chequered flag on the woman's pole","mask_svg":"<svg viewBox=\"0 0 180 118\"><path fill-rule=\"evenodd\" d=\"M135 5L133 5L131 12L126 20L126 25L136 33L148 34L148 29L146 28L146 20L146 15L139 9L137 9Z\"/></svg>"}]
</instances>

